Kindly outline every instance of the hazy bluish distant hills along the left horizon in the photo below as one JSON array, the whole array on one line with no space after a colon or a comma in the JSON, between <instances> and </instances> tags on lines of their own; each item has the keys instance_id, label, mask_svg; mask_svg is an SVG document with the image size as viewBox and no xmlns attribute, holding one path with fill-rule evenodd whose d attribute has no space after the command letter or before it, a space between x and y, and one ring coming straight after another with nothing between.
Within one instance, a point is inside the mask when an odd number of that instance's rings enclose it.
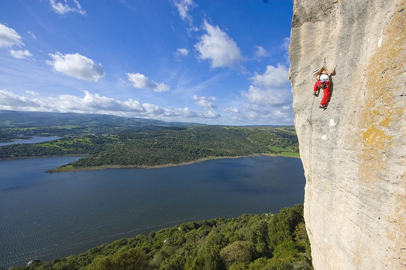
<instances>
[{"instance_id":1,"label":"hazy bluish distant hills along the left horizon","mask_svg":"<svg viewBox=\"0 0 406 270\"><path fill-rule=\"evenodd\" d=\"M142 126L185 127L196 125L202 124L101 114L0 110L0 142L11 142L31 136L72 137L89 134L115 134L126 128Z\"/></svg>"}]
</instances>

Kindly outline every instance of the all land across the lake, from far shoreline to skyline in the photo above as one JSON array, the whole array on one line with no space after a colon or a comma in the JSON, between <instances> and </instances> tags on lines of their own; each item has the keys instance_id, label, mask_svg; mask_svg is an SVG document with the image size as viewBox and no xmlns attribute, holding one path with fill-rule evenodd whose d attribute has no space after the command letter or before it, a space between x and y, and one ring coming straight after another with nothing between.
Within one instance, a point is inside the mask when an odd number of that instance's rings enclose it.
<instances>
[{"instance_id":1,"label":"all land across the lake, from far shoreline to skyline","mask_svg":"<svg viewBox=\"0 0 406 270\"><path fill-rule=\"evenodd\" d=\"M10 140L58 136L58 140L0 147L0 159L84 156L49 173L117 167L165 167L254 155L299 157L293 126L214 126L106 115L0 111ZM17 116L24 115L24 122ZM7 120L8 118L12 118ZM13 124L10 124L13 123Z\"/></svg>"}]
</instances>

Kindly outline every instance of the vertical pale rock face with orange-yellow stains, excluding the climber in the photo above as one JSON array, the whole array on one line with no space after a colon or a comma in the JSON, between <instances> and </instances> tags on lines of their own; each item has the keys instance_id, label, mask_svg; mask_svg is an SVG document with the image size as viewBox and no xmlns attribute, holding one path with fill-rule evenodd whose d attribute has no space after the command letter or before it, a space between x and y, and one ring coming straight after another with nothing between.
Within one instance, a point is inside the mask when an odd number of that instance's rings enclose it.
<instances>
[{"instance_id":1,"label":"vertical pale rock face with orange-yellow stains, excluding the climber","mask_svg":"<svg viewBox=\"0 0 406 270\"><path fill-rule=\"evenodd\" d=\"M290 80L315 269L406 269L405 47L406 0L294 0ZM324 57L337 64L325 111L312 95Z\"/></svg>"}]
</instances>

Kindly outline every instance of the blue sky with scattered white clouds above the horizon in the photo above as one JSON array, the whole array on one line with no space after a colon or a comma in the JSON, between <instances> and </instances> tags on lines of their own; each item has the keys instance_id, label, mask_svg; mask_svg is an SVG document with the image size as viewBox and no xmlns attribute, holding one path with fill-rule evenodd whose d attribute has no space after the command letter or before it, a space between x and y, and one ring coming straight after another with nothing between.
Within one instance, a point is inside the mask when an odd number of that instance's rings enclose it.
<instances>
[{"instance_id":1,"label":"blue sky with scattered white clouds above the horizon","mask_svg":"<svg viewBox=\"0 0 406 270\"><path fill-rule=\"evenodd\" d=\"M291 125L291 0L2 0L0 109Z\"/></svg>"}]
</instances>

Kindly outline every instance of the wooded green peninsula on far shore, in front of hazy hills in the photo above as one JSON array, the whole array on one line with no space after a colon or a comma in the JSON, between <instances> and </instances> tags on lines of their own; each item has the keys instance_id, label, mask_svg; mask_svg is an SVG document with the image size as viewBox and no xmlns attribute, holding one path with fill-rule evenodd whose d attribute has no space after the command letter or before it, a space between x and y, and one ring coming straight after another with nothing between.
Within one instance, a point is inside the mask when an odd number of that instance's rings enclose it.
<instances>
[{"instance_id":1,"label":"wooded green peninsula on far shore, in front of hazy hills","mask_svg":"<svg viewBox=\"0 0 406 270\"><path fill-rule=\"evenodd\" d=\"M115 134L91 134L44 143L0 147L0 159L86 156L50 172L114 166L154 167L259 154L298 157L294 128L142 126L122 128Z\"/></svg>"}]
</instances>

